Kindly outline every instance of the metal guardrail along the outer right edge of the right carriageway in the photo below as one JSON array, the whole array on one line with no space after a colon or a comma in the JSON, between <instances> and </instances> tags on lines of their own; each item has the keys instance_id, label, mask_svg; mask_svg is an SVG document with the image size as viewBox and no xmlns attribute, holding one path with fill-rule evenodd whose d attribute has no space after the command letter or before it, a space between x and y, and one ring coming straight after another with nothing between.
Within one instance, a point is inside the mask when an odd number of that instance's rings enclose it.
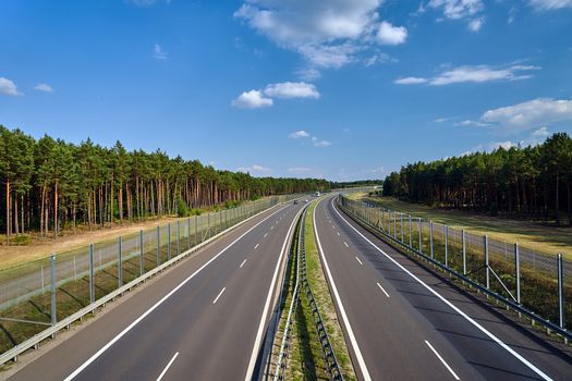
<instances>
[{"instance_id":1,"label":"metal guardrail along the outer right edge of the right carriageway","mask_svg":"<svg viewBox=\"0 0 572 381\"><path fill-rule=\"evenodd\" d=\"M424 253L422 253L421 250L412 247L411 245L409 245L405 241L401 242L398 236L391 236L390 234L386 233L385 231L380 230L378 226L372 224L366 218L364 218L363 216L360 216L355 210L353 210L353 208L351 207L348 207L348 201L352 201L352 200L349 200L346 198L344 198L342 195L340 195L339 197L337 197L337 205L340 207L340 209L342 209L350 218L352 218L353 220L355 220L357 223L360 223L362 226L364 226L365 229L367 229L368 231L370 231L374 235L380 237L381 239L388 242L389 244L392 244L393 246L398 246L398 247L401 247L403 249L405 249L406 251L410 251L421 258L423 258L424 260L437 266L438 268L440 268L441 270L443 270L445 272L453 275L454 278L470 284L471 286L475 287L476 290L480 291L482 293L497 299L498 302L504 304L508 308L512 308L513 310L515 310L516 312L519 314L522 314L524 316L526 316L527 318L530 318L533 322L538 322L540 323L541 325L544 325L548 331L553 331L556 332L557 334L561 335L565 342L572 340L572 333L570 331L568 331L567 329L564 329L563 327L559 327L555 323L552 323L551 321L540 317L539 315L535 314L534 311L523 307L520 303L518 302L514 302L512 299L509 299L491 290L489 290L489 287L485 286L485 285L482 285L477 282L475 282L473 279L468 278L467 274L462 274L460 272L458 272L457 270L446 266L445 263L441 263L440 261L436 260L434 257L433 257L433 253L429 254L429 255L426 255ZM353 201L353 202L356 202L356 201ZM433 239L431 239L433 241ZM431 250L433 251L433 250ZM488 257L487 257L487 260L488 260ZM488 263L486 263L487 266L487 269L488 269ZM485 267L483 267L485 268ZM559 278L560 278L560 283L559 283L559 302L560 302L560 314L562 314L562 266L560 265L559 266Z\"/></svg>"}]
</instances>

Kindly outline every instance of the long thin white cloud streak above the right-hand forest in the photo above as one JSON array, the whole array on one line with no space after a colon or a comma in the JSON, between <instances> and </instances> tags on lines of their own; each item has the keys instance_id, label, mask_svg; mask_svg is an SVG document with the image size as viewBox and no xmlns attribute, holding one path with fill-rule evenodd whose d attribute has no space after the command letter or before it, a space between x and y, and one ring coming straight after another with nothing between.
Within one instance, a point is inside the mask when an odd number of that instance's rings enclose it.
<instances>
[{"instance_id":1,"label":"long thin white cloud streak above the right-hand forest","mask_svg":"<svg viewBox=\"0 0 572 381\"><path fill-rule=\"evenodd\" d=\"M404 77L395 79L394 83L399 85L418 85L428 83L433 86L443 86L467 82L484 83L494 81L521 81L532 77L532 74L522 74L522 72L531 72L535 70L540 70L540 67L532 65L512 65L503 69L494 69L489 65L464 65L446 70L431 78Z\"/></svg>"}]
</instances>

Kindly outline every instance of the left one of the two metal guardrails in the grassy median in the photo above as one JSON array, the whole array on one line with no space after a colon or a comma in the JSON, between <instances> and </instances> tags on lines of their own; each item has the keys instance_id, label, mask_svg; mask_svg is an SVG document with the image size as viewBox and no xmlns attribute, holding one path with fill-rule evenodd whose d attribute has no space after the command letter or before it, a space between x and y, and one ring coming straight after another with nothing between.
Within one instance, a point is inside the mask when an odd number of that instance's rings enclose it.
<instances>
[{"instance_id":1,"label":"left one of the two metal guardrails in the grassy median","mask_svg":"<svg viewBox=\"0 0 572 381\"><path fill-rule=\"evenodd\" d=\"M304 207L304 209L307 210L307 206ZM306 214L306 210L303 211L303 216ZM280 344L280 352L278 353L278 361L277 361L277 365L276 365L276 371L275 371L275 378L273 380L275 381L278 381L278 380L284 380L284 376L285 376L285 370L287 370L287 367L288 367L288 362L287 362L287 359L290 355L290 344L291 344L291 341L292 341L292 329L293 329L293 324L294 324L294 316L296 314L296 308L297 308L297 305L299 305L299 302L300 302L300 257L301 257L301 254L302 254L302 246L301 246L301 232L303 230L303 224L304 224L304 218L301 217L300 218L300 221L299 221L299 226L297 226L297 232L296 232L296 235L297 235L297 247L296 247L296 271L295 271L295 285L294 285L294 291L292 293L292 302L290 303L290 308L288 310L288 318L287 318L287 321L285 321L285 325L284 325L284 332L283 332L283 335L282 335L282 342Z\"/></svg>"}]
</instances>

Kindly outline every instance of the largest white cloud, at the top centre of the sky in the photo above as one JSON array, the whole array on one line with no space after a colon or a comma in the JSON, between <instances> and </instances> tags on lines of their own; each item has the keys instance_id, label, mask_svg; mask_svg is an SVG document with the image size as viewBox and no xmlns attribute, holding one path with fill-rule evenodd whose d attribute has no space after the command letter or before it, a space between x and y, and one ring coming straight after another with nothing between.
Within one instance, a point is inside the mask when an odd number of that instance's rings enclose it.
<instances>
[{"instance_id":1,"label":"largest white cloud, at the top centre of the sky","mask_svg":"<svg viewBox=\"0 0 572 381\"><path fill-rule=\"evenodd\" d=\"M362 61L360 53L378 44L401 44L404 27L378 33L384 0L245 0L234 12L251 28L279 47L300 53L311 67L341 67ZM388 28L391 26L391 28ZM379 39L376 37L379 36Z\"/></svg>"}]
</instances>

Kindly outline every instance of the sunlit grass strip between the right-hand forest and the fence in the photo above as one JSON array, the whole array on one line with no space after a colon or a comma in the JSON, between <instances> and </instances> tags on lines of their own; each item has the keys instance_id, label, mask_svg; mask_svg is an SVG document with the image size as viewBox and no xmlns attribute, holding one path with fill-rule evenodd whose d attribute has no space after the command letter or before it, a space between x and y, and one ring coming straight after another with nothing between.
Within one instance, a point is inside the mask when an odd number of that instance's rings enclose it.
<instances>
[{"instance_id":1,"label":"sunlit grass strip between the right-hand forest and the fence","mask_svg":"<svg viewBox=\"0 0 572 381\"><path fill-rule=\"evenodd\" d=\"M424 220L447 224L454 229L465 229L475 234L487 234L489 238L519 243L538 253L562 254L572 260L572 228L545 226L530 221L516 221L459 210L443 210L419 204L400 201L391 197L353 194L352 199L366 199L387 209L397 210Z\"/></svg>"}]
</instances>

